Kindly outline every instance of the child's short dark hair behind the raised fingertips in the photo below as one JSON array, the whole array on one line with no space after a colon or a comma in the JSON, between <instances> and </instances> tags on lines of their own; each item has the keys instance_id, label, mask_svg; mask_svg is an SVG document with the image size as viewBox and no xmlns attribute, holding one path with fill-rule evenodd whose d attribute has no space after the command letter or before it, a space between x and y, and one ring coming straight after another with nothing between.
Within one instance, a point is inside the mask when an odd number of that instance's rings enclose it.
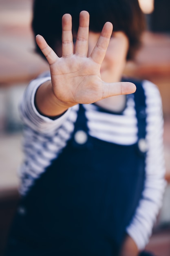
<instances>
[{"instance_id":1,"label":"child's short dark hair behind the raised fingertips","mask_svg":"<svg viewBox=\"0 0 170 256\"><path fill-rule=\"evenodd\" d=\"M77 32L82 10L90 13L91 31L101 32L106 21L113 23L114 31L124 31L130 43L127 59L133 58L145 29L145 18L138 0L34 0L33 32L44 36L51 48L55 49L61 40L64 13L71 14L73 31ZM36 51L43 55L37 45Z\"/></svg>"}]
</instances>

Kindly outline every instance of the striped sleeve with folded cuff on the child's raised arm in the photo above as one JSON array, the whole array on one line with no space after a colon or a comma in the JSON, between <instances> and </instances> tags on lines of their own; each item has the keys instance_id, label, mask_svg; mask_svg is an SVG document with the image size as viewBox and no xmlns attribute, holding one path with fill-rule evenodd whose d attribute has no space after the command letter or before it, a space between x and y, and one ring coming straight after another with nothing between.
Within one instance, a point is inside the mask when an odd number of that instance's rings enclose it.
<instances>
[{"instance_id":1,"label":"striped sleeve with folded cuff on the child's raised arm","mask_svg":"<svg viewBox=\"0 0 170 256\"><path fill-rule=\"evenodd\" d=\"M22 147L25 159L20 166L19 192L26 195L36 179L40 177L52 160L57 158L66 146L74 130L78 106L73 106L56 120L40 115L34 104L35 92L50 76L41 76L31 81L20 104L24 122Z\"/></svg>"}]
</instances>

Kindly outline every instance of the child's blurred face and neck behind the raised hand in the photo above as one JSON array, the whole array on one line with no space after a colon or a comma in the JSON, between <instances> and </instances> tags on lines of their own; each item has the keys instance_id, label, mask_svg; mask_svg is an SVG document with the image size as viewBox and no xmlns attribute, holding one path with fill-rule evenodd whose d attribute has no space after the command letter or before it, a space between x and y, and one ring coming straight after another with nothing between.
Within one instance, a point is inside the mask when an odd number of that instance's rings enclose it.
<instances>
[{"instance_id":1,"label":"child's blurred face and neck behind the raised hand","mask_svg":"<svg viewBox=\"0 0 170 256\"><path fill-rule=\"evenodd\" d=\"M99 36L99 33L89 32L88 56L93 51ZM112 83L121 81L124 66L126 64L128 48L129 41L126 34L121 31L113 32L100 68L101 78L104 82ZM125 95L117 95L97 101L96 104L107 110L119 112L124 109L125 102Z\"/></svg>"}]
</instances>

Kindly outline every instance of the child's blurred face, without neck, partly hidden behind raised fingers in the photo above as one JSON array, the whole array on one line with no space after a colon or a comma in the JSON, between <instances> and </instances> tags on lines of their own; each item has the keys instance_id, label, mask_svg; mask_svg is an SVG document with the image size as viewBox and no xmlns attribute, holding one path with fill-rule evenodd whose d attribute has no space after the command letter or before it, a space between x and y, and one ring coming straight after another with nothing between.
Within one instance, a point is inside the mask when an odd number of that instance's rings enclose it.
<instances>
[{"instance_id":1,"label":"child's blurred face, without neck, partly hidden behind raised fingers","mask_svg":"<svg viewBox=\"0 0 170 256\"><path fill-rule=\"evenodd\" d=\"M89 32L88 56L93 51L100 33ZM113 32L104 61L100 69L102 80L110 83L121 80L122 72L126 64L126 55L129 42L124 32Z\"/></svg>"}]
</instances>

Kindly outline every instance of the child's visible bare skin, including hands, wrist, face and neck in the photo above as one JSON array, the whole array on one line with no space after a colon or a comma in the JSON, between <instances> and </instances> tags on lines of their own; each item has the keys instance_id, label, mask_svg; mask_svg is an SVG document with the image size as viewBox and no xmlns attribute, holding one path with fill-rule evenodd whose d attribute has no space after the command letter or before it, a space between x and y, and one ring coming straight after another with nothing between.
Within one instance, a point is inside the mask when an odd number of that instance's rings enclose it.
<instances>
[{"instance_id":1,"label":"child's visible bare skin, including hands, wrist, face and neck","mask_svg":"<svg viewBox=\"0 0 170 256\"><path fill-rule=\"evenodd\" d=\"M77 40L73 44L71 15L62 17L62 49L59 56L44 38L36 42L46 57L51 81L43 83L35 95L38 110L46 116L56 117L78 103L96 103L103 108L120 111L125 95L135 92L133 83L120 82L128 52L128 38L106 22L101 34L89 32L89 13L79 16ZM61 54L62 52L62 54ZM137 256L137 245L126 236L119 256Z\"/></svg>"}]
</instances>

